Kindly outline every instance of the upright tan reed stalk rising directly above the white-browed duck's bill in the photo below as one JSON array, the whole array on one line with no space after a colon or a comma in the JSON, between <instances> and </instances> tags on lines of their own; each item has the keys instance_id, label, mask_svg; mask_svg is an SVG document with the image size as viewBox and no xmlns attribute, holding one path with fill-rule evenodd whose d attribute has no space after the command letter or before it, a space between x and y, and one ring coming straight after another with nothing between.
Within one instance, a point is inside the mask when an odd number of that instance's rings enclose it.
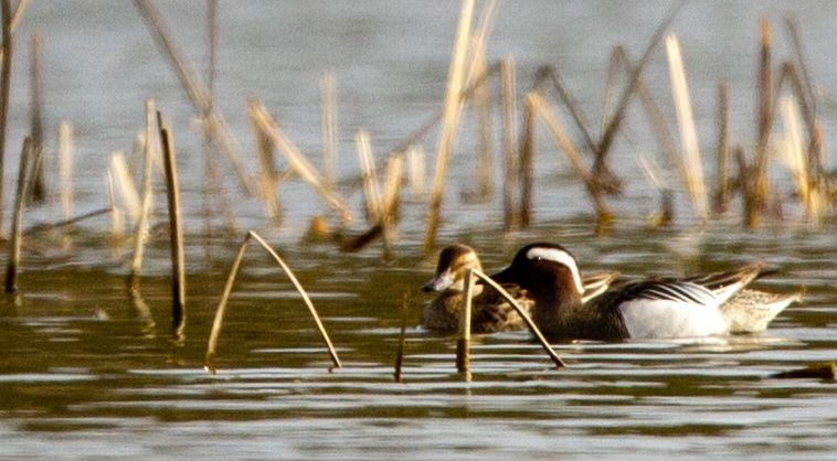
<instances>
[{"instance_id":1,"label":"upright tan reed stalk rising directly above the white-browed duck's bill","mask_svg":"<svg viewBox=\"0 0 837 461\"><path fill-rule=\"evenodd\" d=\"M510 232L515 222L515 189L517 187L517 84L515 61L511 56L500 61L502 99L502 229Z\"/></svg>"}]
</instances>

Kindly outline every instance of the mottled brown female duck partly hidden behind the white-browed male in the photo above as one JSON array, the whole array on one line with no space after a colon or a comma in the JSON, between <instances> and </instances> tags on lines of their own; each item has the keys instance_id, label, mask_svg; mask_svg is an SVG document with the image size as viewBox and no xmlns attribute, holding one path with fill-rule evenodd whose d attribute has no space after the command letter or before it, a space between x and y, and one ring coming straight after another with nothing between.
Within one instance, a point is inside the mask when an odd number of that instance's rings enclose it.
<instances>
[{"instance_id":1,"label":"mottled brown female duck partly hidden behind the white-browed male","mask_svg":"<svg viewBox=\"0 0 837 461\"><path fill-rule=\"evenodd\" d=\"M425 308L422 317L422 325L427 330L455 331L459 325L459 310L463 303L463 290L465 289L465 271L467 269L483 270L479 258L474 248L467 245L452 245L438 255L435 277L424 285L424 291L437 291L436 299ZM617 277L616 272L603 271L586 277L583 280L585 302L597 294L603 293L610 283ZM527 296L526 290L516 285L504 286L507 291L518 301L527 313L531 312L534 304ZM523 319L499 293L486 289L483 285L474 287L472 301L472 331L474 333L492 333L497 331L521 330L526 328Z\"/></svg>"}]
</instances>

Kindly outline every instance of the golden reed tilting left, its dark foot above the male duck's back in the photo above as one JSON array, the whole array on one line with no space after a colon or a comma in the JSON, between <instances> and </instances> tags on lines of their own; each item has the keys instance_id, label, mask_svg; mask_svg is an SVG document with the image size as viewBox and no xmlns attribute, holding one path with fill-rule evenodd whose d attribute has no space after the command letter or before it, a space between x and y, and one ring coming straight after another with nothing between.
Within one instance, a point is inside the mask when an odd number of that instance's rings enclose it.
<instances>
[{"instance_id":1,"label":"golden reed tilting left, its dark foot above the male duck's back","mask_svg":"<svg viewBox=\"0 0 837 461\"><path fill-rule=\"evenodd\" d=\"M584 165L581 163L581 156L579 156L575 146L573 146L570 138L564 133L564 130L558 121L558 117L555 117L553 111L547 106L543 97L541 97L538 92L529 92L526 95L526 104L529 105L534 114L538 114L547 124L547 127L552 135L552 139L555 142L555 147L566 154L566 159L570 161L575 175L578 175L584 184L584 189L587 192L590 200L593 202L600 229L606 226L612 219L612 214L607 210L604 200L602 200L601 189L593 181L593 178L584 170Z\"/></svg>"}]
</instances>

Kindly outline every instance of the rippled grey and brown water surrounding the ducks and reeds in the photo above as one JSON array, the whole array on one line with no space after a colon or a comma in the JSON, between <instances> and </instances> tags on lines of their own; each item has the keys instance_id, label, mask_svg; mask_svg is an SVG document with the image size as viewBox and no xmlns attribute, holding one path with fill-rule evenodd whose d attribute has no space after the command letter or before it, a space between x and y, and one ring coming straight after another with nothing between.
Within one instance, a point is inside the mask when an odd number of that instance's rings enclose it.
<instances>
[{"instance_id":1,"label":"rippled grey and brown water surrounding the ducks and reeds","mask_svg":"<svg viewBox=\"0 0 837 461\"><path fill-rule=\"evenodd\" d=\"M668 7L502 2L489 60L515 56L521 93L539 65L557 64L595 120L610 49L624 44L638 55ZM203 2L160 2L160 8L184 53L202 69ZM695 1L672 31L681 40L707 165L714 144L716 84L730 84L732 136L749 146L757 19L772 20L778 63L792 56L781 22L788 12L802 24L822 96L827 156L837 143L837 117L828 103L837 90L837 64L827 58L837 7ZM248 96L261 98L318 164L317 86L328 69L338 85L341 176L357 171L353 135L360 128L370 131L382 157L437 107L457 13L456 3L435 1L222 2L218 105L245 148L248 168L256 169L244 115ZM405 202L395 256L384 260L380 244L342 254L329 243L300 243L311 216L327 213L305 185L283 183L285 221L272 228L262 205L240 197L230 178L239 234L258 229L295 269L345 367L328 371L328 355L304 304L266 255L252 247L221 335L219 374L206 375L202 365L212 318L242 237L203 232L203 161L192 108L129 2L107 8L96 1L32 2L17 32L7 191L17 174L18 140L28 129L27 39L33 31L42 37L47 132L55 132L60 120L75 125L75 213L105 206L108 156L130 151L145 98L153 97L170 119L187 206L189 320L186 336L173 341L165 238L151 243L142 298L134 301L125 289L130 243L108 243L106 218L77 226L66 248L56 235L29 239L22 303L6 299L0 308L0 457L784 460L833 459L837 452L835 383L770 377L837 360L833 219L819 227L803 223L786 199L784 219L755 232L740 230L737 205L699 230L680 194L675 228L650 229L646 216L656 211L657 196L635 159L657 156L657 147L639 110L631 112L614 148L614 170L626 190L608 200L616 221L604 237L594 235L583 191L547 133L538 141L531 229L499 232L498 196L462 203L473 178L474 129L466 119L439 245L474 245L489 270L536 239L566 245L583 270L691 274L766 260L782 270L762 287L804 288L805 302L782 313L763 335L557 344L570 367L554 369L527 333L496 334L475 341L474 377L466 383L455 373L455 341L412 328L427 300L417 288L433 269L421 257L421 203ZM646 81L672 115L666 73L657 53ZM776 132L781 129L777 124ZM47 162L54 161L54 138L47 140ZM424 146L428 152L433 138ZM659 161L665 164L661 154ZM774 170L777 186L790 194L787 174ZM348 232L359 233L364 227L360 193L348 186L340 192L356 215ZM8 208L8 193L6 200ZM57 216L57 205L34 208L27 225ZM220 227L220 219L212 225ZM405 383L396 384L392 364L406 291Z\"/></svg>"}]
</instances>

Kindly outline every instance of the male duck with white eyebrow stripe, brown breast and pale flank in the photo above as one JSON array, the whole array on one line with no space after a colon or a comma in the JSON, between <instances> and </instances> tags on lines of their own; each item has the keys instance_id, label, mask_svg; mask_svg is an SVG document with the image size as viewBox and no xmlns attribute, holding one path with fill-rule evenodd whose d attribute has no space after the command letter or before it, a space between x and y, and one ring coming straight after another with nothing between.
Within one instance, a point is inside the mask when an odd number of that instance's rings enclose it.
<instances>
[{"instance_id":1,"label":"male duck with white eyebrow stripe, brown breast and pale flank","mask_svg":"<svg viewBox=\"0 0 837 461\"><path fill-rule=\"evenodd\" d=\"M528 291L534 299L532 320L548 337L619 341L763 331L801 298L744 289L766 274L762 264L751 264L688 278L649 278L614 285L585 303L572 254L560 245L533 244L492 278Z\"/></svg>"}]
</instances>

